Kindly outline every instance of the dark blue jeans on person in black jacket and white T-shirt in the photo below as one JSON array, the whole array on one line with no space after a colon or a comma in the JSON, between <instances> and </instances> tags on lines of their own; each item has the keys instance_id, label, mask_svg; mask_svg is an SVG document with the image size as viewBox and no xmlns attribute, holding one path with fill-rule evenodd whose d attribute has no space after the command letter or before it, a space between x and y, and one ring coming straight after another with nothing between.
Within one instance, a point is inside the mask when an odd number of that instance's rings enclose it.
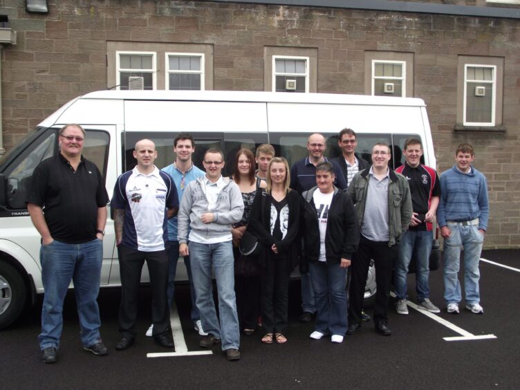
<instances>
[{"instance_id":1,"label":"dark blue jeans on person in black jacket and white T-shirt","mask_svg":"<svg viewBox=\"0 0 520 390\"><path fill-rule=\"evenodd\" d=\"M316 304L315 330L321 333L346 333L346 268L324 261L309 263Z\"/></svg>"}]
</instances>

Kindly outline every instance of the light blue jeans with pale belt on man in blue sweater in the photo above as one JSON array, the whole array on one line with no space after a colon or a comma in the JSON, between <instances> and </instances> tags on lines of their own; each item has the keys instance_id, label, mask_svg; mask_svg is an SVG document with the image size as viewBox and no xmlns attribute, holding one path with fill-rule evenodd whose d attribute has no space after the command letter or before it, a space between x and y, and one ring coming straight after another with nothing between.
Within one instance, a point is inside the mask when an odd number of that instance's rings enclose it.
<instances>
[{"instance_id":1,"label":"light blue jeans with pale belt on man in blue sweater","mask_svg":"<svg viewBox=\"0 0 520 390\"><path fill-rule=\"evenodd\" d=\"M461 284L458 270L461 267L461 248L464 248L464 290L467 304L481 301L479 292L479 261L484 236L476 225L456 225L448 223L452 235L444 240L444 299L447 304L458 304L461 297Z\"/></svg>"}]
</instances>

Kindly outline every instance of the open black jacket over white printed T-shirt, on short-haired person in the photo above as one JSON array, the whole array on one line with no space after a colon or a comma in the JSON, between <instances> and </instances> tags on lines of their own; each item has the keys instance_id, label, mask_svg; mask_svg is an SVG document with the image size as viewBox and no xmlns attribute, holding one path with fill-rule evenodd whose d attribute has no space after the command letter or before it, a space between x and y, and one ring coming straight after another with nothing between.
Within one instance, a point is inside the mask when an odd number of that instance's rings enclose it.
<instances>
[{"instance_id":1,"label":"open black jacket over white printed T-shirt, on short-haired person","mask_svg":"<svg viewBox=\"0 0 520 390\"><path fill-rule=\"evenodd\" d=\"M319 259L319 225L313 194L318 187L304 192L302 232L306 261ZM331 208L328 210L325 233L325 257L327 263L340 263L341 259L352 259L358 250L360 227L351 197L334 187Z\"/></svg>"}]
</instances>

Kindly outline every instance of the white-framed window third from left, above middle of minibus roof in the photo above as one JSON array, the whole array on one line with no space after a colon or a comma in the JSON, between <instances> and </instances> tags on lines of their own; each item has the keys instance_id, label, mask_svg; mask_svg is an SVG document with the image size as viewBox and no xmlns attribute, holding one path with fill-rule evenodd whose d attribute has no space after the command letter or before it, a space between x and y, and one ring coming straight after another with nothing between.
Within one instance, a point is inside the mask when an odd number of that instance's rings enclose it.
<instances>
[{"instance_id":1,"label":"white-framed window third from left, above middle of minibus roof","mask_svg":"<svg viewBox=\"0 0 520 390\"><path fill-rule=\"evenodd\" d=\"M309 57L272 56L272 91L308 92Z\"/></svg>"}]
</instances>

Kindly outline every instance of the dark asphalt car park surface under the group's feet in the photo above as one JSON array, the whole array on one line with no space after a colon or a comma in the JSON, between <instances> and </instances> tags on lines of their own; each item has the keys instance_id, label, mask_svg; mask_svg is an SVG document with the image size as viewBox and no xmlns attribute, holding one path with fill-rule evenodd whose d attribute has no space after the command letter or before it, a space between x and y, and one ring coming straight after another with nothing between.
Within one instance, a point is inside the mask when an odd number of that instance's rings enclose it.
<instances>
[{"instance_id":1,"label":"dark asphalt car park surface under the group's feet","mask_svg":"<svg viewBox=\"0 0 520 390\"><path fill-rule=\"evenodd\" d=\"M299 281L290 285L288 343L264 345L261 331L242 336L242 359L228 362L219 347L211 355L147 357L169 351L145 337L150 324L150 290L141 288L136 344L115 351L120 289L100 293L102 337L109 355L82 350L73 293L66 297L64 331L57 364L43 364L37 344L41 298L19 321L0 331L1 389L519 389L520 388L520 250L484 251L481 304L484 315L463 308L444 309L442 270L431 272L431 301L443 306L438 315L409 308L398 315L389 308L390 337L375 333L372 322L346 337L310 340L313 324L297 322ZM410 300L416 302L414 276ZM189 289L179 285L176 302L189 353L201 351L189 320ZM370 313L371 310L368 310ZM454 339L459 337L459 339ZM182 343L180 343L182 344ZM179 351L182 350L181 345ZM182 351L181 351L182 352Z\"/></svg>"}]
</instances>

